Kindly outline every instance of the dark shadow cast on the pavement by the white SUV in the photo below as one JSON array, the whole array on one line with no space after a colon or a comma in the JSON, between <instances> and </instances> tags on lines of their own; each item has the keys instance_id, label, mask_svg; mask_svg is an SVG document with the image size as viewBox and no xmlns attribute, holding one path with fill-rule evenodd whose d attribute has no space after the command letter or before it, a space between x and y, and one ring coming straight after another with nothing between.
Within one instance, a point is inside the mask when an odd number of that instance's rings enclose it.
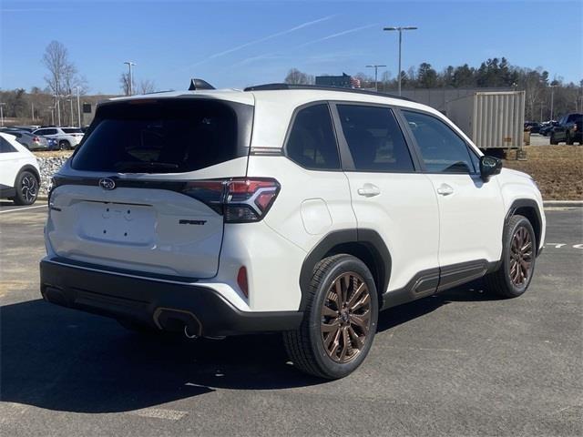
<instances>
[{"instance_id":1,"label":"dark shadow cast on the pavement by the white SUV","mask_svg":"<svg viewBox=\"0 0 583 437\"><path fill-rule=\"evenodd\" d=\"M487 297L465 286L417 300L381 313L379 331L455 300ZM324 382L286 364L276 334L196 341L142 337L115 320L43 300L0 311L1 401L65 412L126 412L213 388L277 390Z\"/></svg>"}]
</instances>

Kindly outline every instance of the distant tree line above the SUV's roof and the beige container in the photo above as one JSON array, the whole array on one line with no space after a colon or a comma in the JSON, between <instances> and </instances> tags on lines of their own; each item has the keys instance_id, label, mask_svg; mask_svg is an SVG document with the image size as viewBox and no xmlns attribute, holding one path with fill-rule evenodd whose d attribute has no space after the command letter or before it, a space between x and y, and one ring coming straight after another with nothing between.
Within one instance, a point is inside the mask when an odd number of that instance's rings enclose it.
<instances>
[{"instance_id":1,"label":"distant tree line above the SUV's roof and the beige container","mask_svg":"<svg viewBox=\"0 0 583 437\"><path fill-rule=\"evenodd\" d=\"M386 93L394 93L397 89L398 78L389 71L384 71L377 84L370 74L359 72L353 77L360 80L362 88L376 87ZM297 68L290 69L284 81L304 85L315 82L314 76ZM560 76L550 79L548 71L542 67L531 69L512 66L505 57L486 59L478 67L464 64L446 66L441 71L424 62L401 72L401 86L403 89L500 87L524 90L527 120L543 121L550 117L551 94L555 118L568 112L583 111L583 79L578 84L566 83Z\"/></svg>"}]
</instances>

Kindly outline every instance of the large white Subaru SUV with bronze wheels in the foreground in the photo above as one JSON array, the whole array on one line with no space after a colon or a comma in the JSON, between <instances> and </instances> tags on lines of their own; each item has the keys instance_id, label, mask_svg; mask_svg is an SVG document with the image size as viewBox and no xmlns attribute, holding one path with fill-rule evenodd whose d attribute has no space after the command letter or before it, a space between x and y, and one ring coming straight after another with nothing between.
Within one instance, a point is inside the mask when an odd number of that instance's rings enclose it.
<instances>
[{"instance_id":1,"label":"large white Subaru SUV with bronze wheels in the foreground","mask_svg":"<svg viewBox=\"0 0 583 437\"><path fill-rule=\"evenodd\" d=\"M53 180L45 300L132 330L281 331L294 365L354 371L379 310L484 277L527 290L532 178L431 107L271 84L115 98Z\"/></svg>"}]
</instances>

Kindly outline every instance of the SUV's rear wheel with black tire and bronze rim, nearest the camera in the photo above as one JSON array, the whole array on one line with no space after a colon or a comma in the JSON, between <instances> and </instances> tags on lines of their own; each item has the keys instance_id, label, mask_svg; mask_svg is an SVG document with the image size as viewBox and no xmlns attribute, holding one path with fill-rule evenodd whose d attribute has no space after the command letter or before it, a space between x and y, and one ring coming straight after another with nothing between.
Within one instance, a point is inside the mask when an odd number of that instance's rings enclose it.
<instances>
[{"instance_id":1,"label":"SUV's rear wheel with black tire and bronze rim, nearest the camera","mask_svg":"<svg viewBox=\"0 0 583 437\"><path fill-rule=\"evenodd\" d=\"M302 325L283 333L301 371L329 380L352 373L373 344L378 298L373 275L360 259L334 255L314 269Z\"/></svg>"}]
</instances>

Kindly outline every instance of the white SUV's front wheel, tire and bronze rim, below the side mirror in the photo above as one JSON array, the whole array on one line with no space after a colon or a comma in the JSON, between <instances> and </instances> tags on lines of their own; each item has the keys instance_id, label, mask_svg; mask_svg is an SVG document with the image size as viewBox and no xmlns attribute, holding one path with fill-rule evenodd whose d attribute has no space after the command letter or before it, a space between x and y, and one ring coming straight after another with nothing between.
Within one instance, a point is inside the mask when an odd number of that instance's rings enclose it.
<instances>
[{"instance_id":1,"label":"white SUV's front wheel, tire and bronze rim, below the side mirror","mask_svg":"<svg viewBox=\"0 0 583 437\"><path fill-rule=\"evenodd\" d=\"M510 218L502 252L502 265L484 277L486 288L503 298L517 298L527 291L537 259L537 237L526 217Z\"/></svg>"}]
</instances>

